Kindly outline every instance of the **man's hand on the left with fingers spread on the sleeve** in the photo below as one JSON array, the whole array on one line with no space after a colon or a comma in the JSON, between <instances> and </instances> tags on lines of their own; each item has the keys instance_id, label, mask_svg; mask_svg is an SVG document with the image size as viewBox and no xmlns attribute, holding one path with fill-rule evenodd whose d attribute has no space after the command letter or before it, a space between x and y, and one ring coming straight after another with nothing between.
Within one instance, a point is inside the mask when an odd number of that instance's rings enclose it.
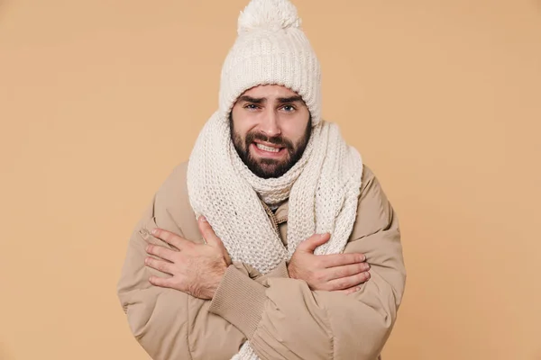
<instances>
[{"instance_id":1,"label":"man's hand on the left with fingers spread on the sleeve","mask_svg":"<svg viewBox=\"0 0 541 360\"><path fill-rule=\"evenodd\" d=\"M231 258L222 240L215 235L203 216L199 217L197 225L206 244L196 244L164 229L152 230L155 238L162 239L176 249L149 245L147 253L160 259L147 257L145 264L171 275L169 278L151 276L151 284L208 300L214 297L227 266L231 265Z\"/></svg>"}]
</instances>

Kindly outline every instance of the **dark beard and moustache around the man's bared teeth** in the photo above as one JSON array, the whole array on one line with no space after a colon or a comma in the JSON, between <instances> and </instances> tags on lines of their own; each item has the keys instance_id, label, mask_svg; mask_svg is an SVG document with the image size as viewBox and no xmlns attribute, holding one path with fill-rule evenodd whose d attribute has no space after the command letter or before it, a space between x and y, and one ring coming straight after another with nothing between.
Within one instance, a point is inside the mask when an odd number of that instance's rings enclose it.
<instances>
[{"instance_id":1,"label":"dark beard and moustache around the man's bared teeth","mask_svg":"<svg viewBox=\"0 0 541 360\"><path fill-rule=\"evenodd\" d=\"M307 130L303 134L302 138L294 144L291 140L280 136L269 137L261 132L250 131L246 134L245 139L234 130L233 118L230 116L230 130L231 139L233 140L234 148L236 149L239 157L243 160L243 163L248 166L250 171L258 177L263 179L269 179L273 177L280 177L286 174L291 167L297 164L302 154L308 145L308 140L312 134L312 118L308 120ZM283 159L276 158L258 158L253 157L250 153L250 145L254 140L266 141L271 144L277 145L280 148L285 148L287 155Z\"/></svg>"}]
</instances>

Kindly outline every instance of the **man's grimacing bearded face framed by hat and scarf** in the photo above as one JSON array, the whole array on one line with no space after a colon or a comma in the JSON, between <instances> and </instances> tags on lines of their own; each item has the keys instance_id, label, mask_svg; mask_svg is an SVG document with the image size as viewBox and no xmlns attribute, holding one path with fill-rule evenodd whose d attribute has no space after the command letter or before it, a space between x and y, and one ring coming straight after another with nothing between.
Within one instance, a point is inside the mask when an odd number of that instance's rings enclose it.
<instances>
[{"instance_id":1,"label":"man's grimacing bearded face framed by hat and scarf","mask_svg":"<svg viewBox=\"0 0 541 360\"><path fill-rule=\"evenodd\" d=\"M312 126L301 97L280 85L259 85L239 96L231 112L231 139L253 174L280 177L307 147Z\"/></svg>"}]
</instances>

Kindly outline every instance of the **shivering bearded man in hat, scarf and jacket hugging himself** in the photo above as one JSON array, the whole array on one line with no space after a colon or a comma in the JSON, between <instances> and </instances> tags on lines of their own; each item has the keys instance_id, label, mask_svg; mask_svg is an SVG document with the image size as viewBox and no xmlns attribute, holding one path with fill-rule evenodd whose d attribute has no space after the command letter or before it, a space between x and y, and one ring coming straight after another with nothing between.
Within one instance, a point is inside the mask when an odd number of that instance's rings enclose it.
<instances>
[{"instance_id":1,"label":"shivering bearded man in hat, scarf and jacket hugging himself","mask_svg":"<svg viewBox=\"0 0 541 360\"><path fill-rule=\"evenodd\" d=\"M118 294L153 359L372 360L390 335L399 223L321 119L299 23L288 0L248 4L219 109L133 232Z\"/></svg>"}]
</instances>

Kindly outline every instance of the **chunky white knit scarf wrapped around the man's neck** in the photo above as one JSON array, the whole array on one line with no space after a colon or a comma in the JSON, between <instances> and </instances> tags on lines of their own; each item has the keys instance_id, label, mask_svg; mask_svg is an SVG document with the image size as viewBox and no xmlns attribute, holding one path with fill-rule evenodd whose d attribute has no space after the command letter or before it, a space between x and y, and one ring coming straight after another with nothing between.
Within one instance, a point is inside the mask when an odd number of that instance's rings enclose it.
<instances>
[{"instance_id":1,"label":"chunky white knit scarf wrapped around the man's neck","mask_svg":"<svg viewBox=\"0 0 541 360\"><path fill-rule=\"evenodd\" d=\"M321 121L297 164L279 178L262 179L244 165L231 140L229 121L215 112L201 130L188 162L188 196L205 215L233 261L266 274L289 260L298 244L330 232L316 254L344 250L356 218L362 159L338 127ZM288 246L273 229L261 201L276 207L289 199ZM258 359L248 342L234 359Z\"/></svg>"}]
</instances>

